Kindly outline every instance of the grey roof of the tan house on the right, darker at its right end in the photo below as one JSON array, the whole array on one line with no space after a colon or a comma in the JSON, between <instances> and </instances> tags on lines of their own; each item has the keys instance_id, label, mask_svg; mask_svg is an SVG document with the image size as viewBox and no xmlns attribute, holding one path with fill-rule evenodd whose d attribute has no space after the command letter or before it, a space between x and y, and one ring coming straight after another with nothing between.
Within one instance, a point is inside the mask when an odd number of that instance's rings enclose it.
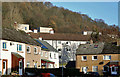
<instances>
[{"instance_id":1,"label":"grey roof of the tan house on the right, darker at its right end","mask_svg":"<svg viewBox=\"0 0 120 77\"><path fill-rule=\"evenodd\" d=\"M120 46L111 43L94 43L80 45L76 54L89 55L89 54L120 54Z\"/></svg>"}]
</instances>

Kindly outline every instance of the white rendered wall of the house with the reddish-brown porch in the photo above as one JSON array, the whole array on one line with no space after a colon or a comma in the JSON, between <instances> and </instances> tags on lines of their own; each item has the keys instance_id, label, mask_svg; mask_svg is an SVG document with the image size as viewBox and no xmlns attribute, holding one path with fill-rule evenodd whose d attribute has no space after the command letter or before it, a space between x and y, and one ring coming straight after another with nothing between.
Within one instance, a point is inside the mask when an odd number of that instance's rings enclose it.
<instances>
[{"instance_id":1,"label":"white rendered wall of the house with the reddish-brown porch","mask_svg":"<svg viewBox=\"0 0 120 77\"><path fill-rule=\"evenodd\" d=\"M1 47L1 59L7 59L8 60L8 74L11 73L11 52L16 52L18 54L20 54L22 57L24 57L24 61L25 61L25 44L23 43L19 43L19 42L12 42L12 41L7 41L7 40L1 40L1 46L3 46L3 42L6 42L6 49L8 51L3 51L2 47ZM10 46L10 42L13 43L14 45ZM19 53L17 52L17 44L22 45L22 51L23 53ZM2 66L2 64L1 64ZM25 66L25 62L24 62L24 66Z\"/></svg>"}]
</instances>

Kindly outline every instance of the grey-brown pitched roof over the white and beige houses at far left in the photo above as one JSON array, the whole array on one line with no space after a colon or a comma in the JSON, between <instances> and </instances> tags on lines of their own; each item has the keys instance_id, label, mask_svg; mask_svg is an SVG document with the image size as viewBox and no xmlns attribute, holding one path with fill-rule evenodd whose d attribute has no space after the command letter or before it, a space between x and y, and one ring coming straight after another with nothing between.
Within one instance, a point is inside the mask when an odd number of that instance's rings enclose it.
<instances>
[{"instance_id":1,"label":"grey-brown pitched roof over the white and beige houses at far left","mask_svg":"<svg viewBox=\"0 0 120 77\"><path fill-rule=\"evenodd\" d=\"M15 29L3 28L1 39L41 46L36 40L34 40L24 31L16 31Z\"/></svg>"}]
</instances>

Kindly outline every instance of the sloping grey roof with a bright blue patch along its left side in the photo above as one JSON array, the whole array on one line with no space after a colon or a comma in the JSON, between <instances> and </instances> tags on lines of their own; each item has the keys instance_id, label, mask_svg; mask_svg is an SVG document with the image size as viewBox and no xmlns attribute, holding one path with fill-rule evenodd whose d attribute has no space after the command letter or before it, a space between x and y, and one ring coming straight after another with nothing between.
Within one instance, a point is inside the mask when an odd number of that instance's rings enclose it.
<instances>
[{"instance_id":1,"label":"sloping grey roof with a bright blue patch along its left side","mask_svg":"<svg viewBox=\"0 0 120 77\"><path fill-rule=\"evenodd\" d=\"M47 43L46 41L43 41L43 40L38 40L36 39L37 42L39 42L42 46L41 48L43 49L48 49L49 51L54 51L54 52L57 52L57 50L55 48L53 48L53 46L51 46L49 43Z\"/></svg>"}]
</instances>

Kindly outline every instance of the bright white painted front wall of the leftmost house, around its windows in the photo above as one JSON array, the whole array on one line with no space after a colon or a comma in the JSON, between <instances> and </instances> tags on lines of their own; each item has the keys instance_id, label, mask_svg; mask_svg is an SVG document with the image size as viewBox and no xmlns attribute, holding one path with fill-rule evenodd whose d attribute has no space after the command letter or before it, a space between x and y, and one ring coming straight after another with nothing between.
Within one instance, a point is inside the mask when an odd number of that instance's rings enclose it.
<instances>
[{"instance_id":1,"label":"bright white painted front wall of the leftmost house, around its windows","mask_svg":"<svg viewBox=\"0 0 120 77\"><path fill-rule=\"evenodd\" d=\"M6 49L3 49L2 46L3 46L3 42L6 42ZM10 45L10 43L12 45ZM17 44L20 44L22 45L22 51L17 51ZM3 59L6 59L7 60L7 73L10 74L12 71L11 71L11 65L12 65L12 62L11 62L11 52L15 52L15 53L18 53L20 54L24 60L25 60L25 44L23 43L19 43L19 42L13 42L13 41L7 41L7 40L0 40L0 71L2 71L2 60Z\"/></svg>"}]
</instances>

